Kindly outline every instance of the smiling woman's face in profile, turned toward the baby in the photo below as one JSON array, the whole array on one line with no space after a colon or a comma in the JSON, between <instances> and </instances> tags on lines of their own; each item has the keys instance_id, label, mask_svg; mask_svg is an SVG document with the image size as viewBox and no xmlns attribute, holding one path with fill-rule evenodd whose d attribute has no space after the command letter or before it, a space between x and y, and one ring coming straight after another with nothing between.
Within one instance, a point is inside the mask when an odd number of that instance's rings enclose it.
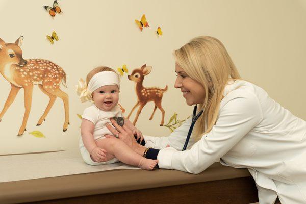
<instances>
[{"instance_id":1,"label":"smiling woman's face in profile, turned toward the baby","mask_svg":"<svg viewBox=\"0 0 306 204\"><path fill-rule=\"evenodd\" d=\"M204 87L199 82L191 79L177 63L175 63L175 72L177 73L177 78L174 87L181 89L186 103L189 106L203 103L205 98Z\"/></svg>"}]
</instances>

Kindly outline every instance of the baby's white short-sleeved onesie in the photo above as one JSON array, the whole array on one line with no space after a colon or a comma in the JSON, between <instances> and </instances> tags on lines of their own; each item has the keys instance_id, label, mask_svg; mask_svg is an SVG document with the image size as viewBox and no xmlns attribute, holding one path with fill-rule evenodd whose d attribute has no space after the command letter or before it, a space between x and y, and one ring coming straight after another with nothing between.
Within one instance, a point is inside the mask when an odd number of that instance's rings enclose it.
<instances>
[{"instance_id":1,"label":"baby's white short-sleeved onesie","mask_svg":"<svg viewBox=\"0 0 306 204\"><path fill-rule=\"evenodd\" d=\"M105 139L106 137L104 135L113 135L105 125L106 123L112 124L110 118L113 117L122 117L122 112L118 105L116 105L111 111L103 111L96 107L95 104L92 104L84 110L82 115L82 118L89 120L94 124L93 137L95 141ZM89 165L112 164L119 161L117 158L114 158L107 162L94 162L83 144L82 136L80 137L79 147L83 160Z\"/></svg>"}]
</instances>

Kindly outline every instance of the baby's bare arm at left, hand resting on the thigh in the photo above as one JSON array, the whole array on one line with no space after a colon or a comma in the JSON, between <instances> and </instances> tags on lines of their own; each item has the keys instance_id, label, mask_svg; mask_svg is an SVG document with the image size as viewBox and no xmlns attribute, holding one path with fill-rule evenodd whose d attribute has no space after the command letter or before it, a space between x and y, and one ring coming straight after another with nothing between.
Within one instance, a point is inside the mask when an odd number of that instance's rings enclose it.
<instances>
[{"instance_id":1,"label":"baby's bare arm at left, hand resting on the thigh","mask_svg":"<svg viewBox=\"0 0 306 204\"><path fill-rule=\"evenodd\" d=\"M86 147L87 151L95 162L104 162L106 161L105 153L107 151L97 146L93 138L93 130L94 124L91 121L82 118L81 135L84 146Z\"/></svg>"}]
</instances>

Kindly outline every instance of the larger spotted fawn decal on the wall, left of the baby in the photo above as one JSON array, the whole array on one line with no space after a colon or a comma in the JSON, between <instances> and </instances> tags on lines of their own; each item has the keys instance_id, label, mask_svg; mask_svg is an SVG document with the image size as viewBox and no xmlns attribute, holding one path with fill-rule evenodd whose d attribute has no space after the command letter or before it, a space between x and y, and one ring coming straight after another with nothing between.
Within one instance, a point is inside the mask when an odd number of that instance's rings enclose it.
<instances>
[{"instance_id":1,"label":"larger spotted fawn decal on the wall, left of the baby","mask_svg":"<svg viewBox=\"0 0 306 204\"><path fill-rule=\"evenodd\" d=\"M47 60L24 60L20 48L22 40L23 36L19 37L15 43L5 43L0 39L0 73L11 84L11 91L0 113L0 122L5 112L13 103L18 91L23 88L25 112L18 132L18 135L22 135L31 110L33 86L38 84L40 90L50 100L44 113L38 120L37 126L45 121L56 97L60 97L64 101L65 122L63 131L65 132L69 124L69 104L68 95L60 90L60 83L67 87L66 73L60 66Z\"/></svg>"}]
</instances>

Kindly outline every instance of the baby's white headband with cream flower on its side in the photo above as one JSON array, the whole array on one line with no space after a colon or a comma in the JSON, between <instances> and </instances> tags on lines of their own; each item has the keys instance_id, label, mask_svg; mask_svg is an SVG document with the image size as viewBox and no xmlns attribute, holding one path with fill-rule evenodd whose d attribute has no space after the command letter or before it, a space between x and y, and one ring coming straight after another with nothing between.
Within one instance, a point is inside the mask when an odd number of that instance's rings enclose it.
<instances>
[{"instance_id":1,"label":"baby's white headband with cream flower on its side","mask_svg":"<svg viewBox=\"0 0 306 204\"><path fill-rule=\"evenodd\" d=\"M106 85L117 85L120 90L118 74L113 71L101 71L93 75L88 86L83 79L80 79L79 84L75 87L77 88L77 94L80 96L81 101L85 102L92 100L92 92Z\"/></svg>"}]
</instances>

